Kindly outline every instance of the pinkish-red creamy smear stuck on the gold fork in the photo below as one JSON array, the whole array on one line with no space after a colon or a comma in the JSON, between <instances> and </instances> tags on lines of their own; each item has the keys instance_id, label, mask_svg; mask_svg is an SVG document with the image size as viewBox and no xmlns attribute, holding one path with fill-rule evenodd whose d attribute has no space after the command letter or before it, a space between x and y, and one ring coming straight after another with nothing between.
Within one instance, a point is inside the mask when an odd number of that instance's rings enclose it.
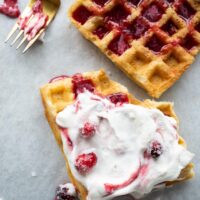
<instances>
[{"instance_id":1,"label":"pinkish-red creamy smear stuck on the gold fork","mask_svg":"<svg viewBox=\"0 0 200 200\"><path fill-rule=\"evenodd\" d=\"M33 18L30 20L31 17ZM27 13L26 16L19 18L18 25L20 29L24 30L27 40L30 41L41 29L46 26L47 21L48 16L43 13L42 1L37 0L31 11Z\"/></svg>"}]
</instances>

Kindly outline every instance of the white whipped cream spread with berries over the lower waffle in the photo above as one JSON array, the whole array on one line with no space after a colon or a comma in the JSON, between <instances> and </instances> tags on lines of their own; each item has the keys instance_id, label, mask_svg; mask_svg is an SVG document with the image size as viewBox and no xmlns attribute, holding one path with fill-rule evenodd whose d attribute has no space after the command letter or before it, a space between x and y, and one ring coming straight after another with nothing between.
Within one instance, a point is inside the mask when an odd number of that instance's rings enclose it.
<instances>
[{"instance_id":1,"label":"white whipped cream spread with berries over the lower waffle","mask_svg":"<svg viewBox=\"0 0 200 200\"><path fill-rule=\"evenodd\" d=\"M85 91L58 113L56 122L71 171L88 190L87 200L140 198L177 179L193 158L178 144L175 119L158 109L113 104Z\"/></svg>"}]
</instances>

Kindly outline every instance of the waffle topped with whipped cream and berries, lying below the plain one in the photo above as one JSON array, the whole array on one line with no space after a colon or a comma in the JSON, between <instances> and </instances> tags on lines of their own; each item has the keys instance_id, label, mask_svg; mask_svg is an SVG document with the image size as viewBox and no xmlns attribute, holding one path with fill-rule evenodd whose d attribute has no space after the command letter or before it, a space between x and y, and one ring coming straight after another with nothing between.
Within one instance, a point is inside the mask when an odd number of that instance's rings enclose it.
<instances>
[{"instance_id":1,"label":"waffle topped with whipped cream and berries, lying below the plain one","mask_svg":"<svg viewBox=\"0 0 200 200\"><path fill-rule=\"evenodd\" d=\"M41 88L41 96L47 120L64 153L69 178L82 200L111 199L135 190L139 191L135 197L141 197L159 186L193 177L192 154L177 134L177 117L171 103L139 101L103 70L56 77ZM143 125L137 129L138 124ZM155 133L151 134L151 129ZM171 134L168 137L166 133ZM167 137L164 143L158 142L164 140L162 134ZM149 141L142 142L145 138ZM165 145L170 145L171 153ZM129 154L131 159L125 163ZM173 161L171 165L169 160ZM168 178L156 179L161 169L167 170L163 173ZM155 180L150 187L148 182Z\"/></svg>"}]
</instances>

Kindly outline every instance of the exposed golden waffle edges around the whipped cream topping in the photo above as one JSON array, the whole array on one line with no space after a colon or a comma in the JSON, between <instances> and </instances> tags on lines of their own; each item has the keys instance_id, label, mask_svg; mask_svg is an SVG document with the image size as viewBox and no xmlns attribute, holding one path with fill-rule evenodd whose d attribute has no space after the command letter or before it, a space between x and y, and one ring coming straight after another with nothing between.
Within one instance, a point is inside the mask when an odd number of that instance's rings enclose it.
<instances>
[{"instance_id":1,"label":"exposed golden waffle edges around the whipped cream topping","mask_svg":"<svg viewBox=\"0 0 200 200\"><path fill-rule=\"evenodd\" d=\"M87 72L82 74L83 78L90 79L95 86L95 90L102 95L109 95L113 93L125 93L128 95L129 102L135 105L140 105L148 108L157 108L161 110L165 115L174 117L177 120L177 117L173 110L173 104L169 102L155 102L151 100L139 101L132 95L128 93L128 90L110 80L103 70L96 72ZM53 83L49 83L41 87L41 96L43 105L45 108L46 118L53 130L54 136L57 140L58 145L63 151L63 144L61 140L61 133L59 127L57 126L55 119L58 112L62 111L66 106L73 103L74 101L74 93L72 91L72 78L65 78L63 80L59 80ZM183 146L186 146L184 140L180 137L179 143ZM64 154L65 156L65 154ZM80 194L81 200L86 200L87 190L86 188L79 183L75 177L73 176L67 157L65 156L66 166L69 178L71 182L75 185ZM166 182L166 185L172 185L176 182L182 182L184 180L188 180L193 177L193 164L190 163L185 169L182 170L179 178L173 182Z\"/></svg>"}]
</instances>

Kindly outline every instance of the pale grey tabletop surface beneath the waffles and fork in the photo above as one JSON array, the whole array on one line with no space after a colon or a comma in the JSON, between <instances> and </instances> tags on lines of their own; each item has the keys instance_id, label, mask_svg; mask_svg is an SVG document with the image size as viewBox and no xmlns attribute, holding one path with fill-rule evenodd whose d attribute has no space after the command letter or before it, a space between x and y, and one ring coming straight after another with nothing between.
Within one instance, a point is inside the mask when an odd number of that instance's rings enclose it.
<instances>
[{"instance_id":1,"label":"pale grey tabletop surface beneath the waffles and fork","mask_svg":"<svg viewBox=\"0 0 200 200\"><path fill-rule=\"evenodd\" d=\"M27 1L19 2L23 10ZM39 87L51 77L103 67L137 98L148 98L70 24L66 10L71 3L72 0L62 0L46 31L45 43L37 42L26 54L3 42L15 20L0 15L0 199L53 200L57 185L67 180L64 159L44 117L39 94ZM200 199L199 64L198 56L160 99L175 103L180 132L196 154L196 177L145 200Z\"/></svg>"}]
</instances>

